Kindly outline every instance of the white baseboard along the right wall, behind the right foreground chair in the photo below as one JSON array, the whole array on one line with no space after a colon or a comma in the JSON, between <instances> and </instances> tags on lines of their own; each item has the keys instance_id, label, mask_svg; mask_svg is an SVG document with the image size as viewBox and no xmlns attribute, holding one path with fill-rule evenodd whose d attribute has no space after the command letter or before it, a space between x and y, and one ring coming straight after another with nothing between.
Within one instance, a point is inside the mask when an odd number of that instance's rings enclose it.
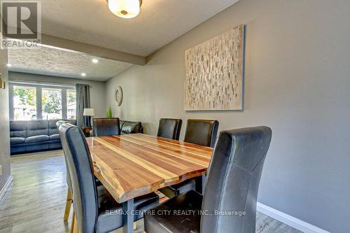
<instances>
[{"instance_id":1,"label":"white baseboard along the right wall, behind the right foreground chair","mask_svg":"<svg viewBox=\"0 0 350 233\"><path fill-rule=\"evenodd\" d=\"M286 213L277 211L276 209L266 206L265 204L261 204L260 202L258 202L256 210L266 214L267 216L270 216L271 218L279 220L281 223L290 225L290 227L294 227L296 230L300 230L304 233L330 233L319 227L306 223L298 218L294 218L293 216L290 216Z\"/></svg>"}]
</instances>

